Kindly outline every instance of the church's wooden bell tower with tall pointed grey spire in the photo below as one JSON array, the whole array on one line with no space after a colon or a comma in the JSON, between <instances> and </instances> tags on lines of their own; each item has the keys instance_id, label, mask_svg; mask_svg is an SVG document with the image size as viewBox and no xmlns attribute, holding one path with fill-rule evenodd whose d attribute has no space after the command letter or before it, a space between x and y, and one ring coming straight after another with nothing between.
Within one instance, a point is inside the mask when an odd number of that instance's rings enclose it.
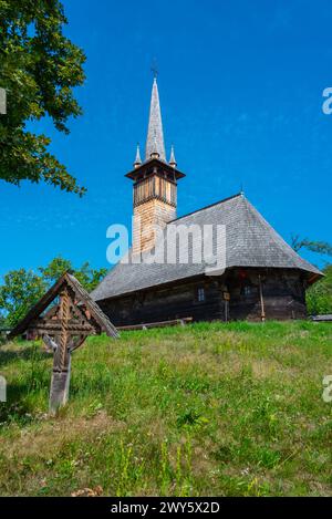
<instances>
[{"instance_id":1,"label":"church's wooden bell tower with tall pointed grey spire","mask_svg":"<svg viewBox=\"0 0 332 519\"><path fill-rule=\"evenodd\" d=\"M185 175L177 169L174 147L166 160L157 80L154 77L145 159L137 145L134 169L126 175L134 181L133 253L155 246L155 226L165 227L176 218L177 180Z\"/></svg>"}]
</instances>

